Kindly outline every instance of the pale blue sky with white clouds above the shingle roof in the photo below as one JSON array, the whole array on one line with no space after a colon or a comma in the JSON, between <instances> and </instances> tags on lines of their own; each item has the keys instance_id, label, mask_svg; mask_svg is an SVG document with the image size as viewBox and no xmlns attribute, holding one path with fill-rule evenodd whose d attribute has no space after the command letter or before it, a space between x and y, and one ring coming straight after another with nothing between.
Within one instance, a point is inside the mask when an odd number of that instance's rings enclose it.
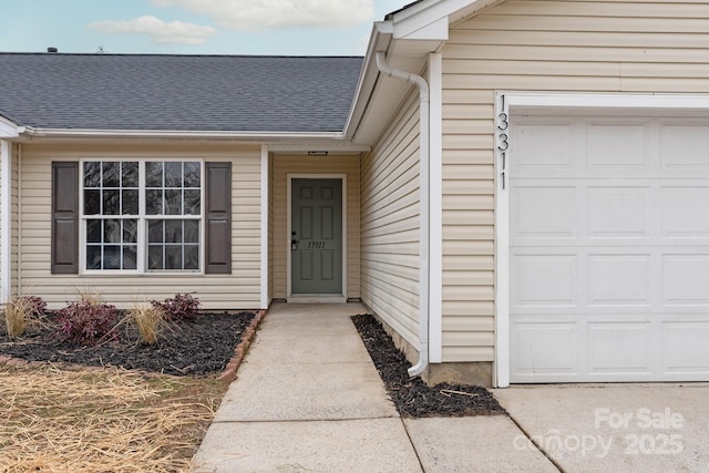
<instances>
[{"instance_id":1,"label":"pale blue sky with white clouds above the shingle roof","mask_svg":"<svg viewBox=\"0 0 709 473\"><path fill-rule=\"evenodd\" d=\"M364 55L374 21L411 0L3 2L0 52Z\"/></svg>"}]
</instances>

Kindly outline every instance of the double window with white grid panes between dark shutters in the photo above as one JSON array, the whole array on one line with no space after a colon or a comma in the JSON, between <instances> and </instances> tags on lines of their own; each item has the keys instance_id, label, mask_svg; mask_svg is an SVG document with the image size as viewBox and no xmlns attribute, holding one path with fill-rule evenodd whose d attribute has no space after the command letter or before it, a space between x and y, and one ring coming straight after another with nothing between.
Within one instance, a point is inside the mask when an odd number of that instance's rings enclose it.
<instances>
[{"instance_id":1,"label":"double window with white grid panes between dark shutters","mask_svg":"<svg viewBox=\"0 0 709 473\"><path fill-rule=\"evenodd\" d=\"M198 161L82 163L85 271L201 271Z\"/></svg>"}]
</instances>

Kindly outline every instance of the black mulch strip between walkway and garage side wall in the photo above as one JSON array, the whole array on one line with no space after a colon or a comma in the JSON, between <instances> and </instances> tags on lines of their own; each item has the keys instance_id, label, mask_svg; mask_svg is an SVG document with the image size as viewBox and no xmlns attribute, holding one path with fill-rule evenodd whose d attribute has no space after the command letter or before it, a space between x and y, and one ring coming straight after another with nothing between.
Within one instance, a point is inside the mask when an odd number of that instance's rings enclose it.
<instances>
[{"instance_id":1,"label":"black mulch strip between walkway and garage side wall","mask_svg":"<svg viewBox=\"0 0 709 473\"><path fill-rule=\"evenodd\" d=\"M490 391L479 385L441 383L428 387L410 378L411 363L395 347L379 321L370 315L352 321L372 358L399 414L407 418L505 414Z\"/></svg>"}]
</instances>

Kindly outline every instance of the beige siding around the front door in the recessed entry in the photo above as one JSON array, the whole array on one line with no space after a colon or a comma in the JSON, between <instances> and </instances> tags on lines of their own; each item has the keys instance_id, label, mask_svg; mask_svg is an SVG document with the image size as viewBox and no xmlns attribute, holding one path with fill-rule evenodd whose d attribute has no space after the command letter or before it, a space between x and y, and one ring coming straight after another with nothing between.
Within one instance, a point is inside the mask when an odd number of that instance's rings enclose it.
<instances>
[{"instance_id":1,"label":"beige siding around the front door in the recessed entry","mask_svg":"<svg viewBox=\"0 0 709 473\"><path fill-rule=\"evenodd\" d=\"M275 297L285 299L287 291L288 235L288 175L316 177L319 174L347 175L347 294L348 298L360 297L360 174L359 156L330 155L302 156L277 154L274 157L274 285Z\"/></svg>"}]
</instances>

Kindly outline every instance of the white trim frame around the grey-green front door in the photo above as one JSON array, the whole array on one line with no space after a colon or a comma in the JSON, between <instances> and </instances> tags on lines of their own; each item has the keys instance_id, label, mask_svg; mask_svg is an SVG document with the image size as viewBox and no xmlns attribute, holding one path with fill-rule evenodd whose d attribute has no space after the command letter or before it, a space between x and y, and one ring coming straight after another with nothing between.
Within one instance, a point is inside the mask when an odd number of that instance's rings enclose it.
<instances>
[{"instance_id":1,"label":"white trim frame around the grey-green front door","mask_svg":"<svg viewBox=\"0 0 709 473\"><path fill-rule=\"evenodd\" d=\"M342 295L294 295L290 235L292 218L292 179L340 179L342 182ZM288 302L347 302L347 174L287 174L286 189L286 300Z\"/></svg>"}]
</instances>

